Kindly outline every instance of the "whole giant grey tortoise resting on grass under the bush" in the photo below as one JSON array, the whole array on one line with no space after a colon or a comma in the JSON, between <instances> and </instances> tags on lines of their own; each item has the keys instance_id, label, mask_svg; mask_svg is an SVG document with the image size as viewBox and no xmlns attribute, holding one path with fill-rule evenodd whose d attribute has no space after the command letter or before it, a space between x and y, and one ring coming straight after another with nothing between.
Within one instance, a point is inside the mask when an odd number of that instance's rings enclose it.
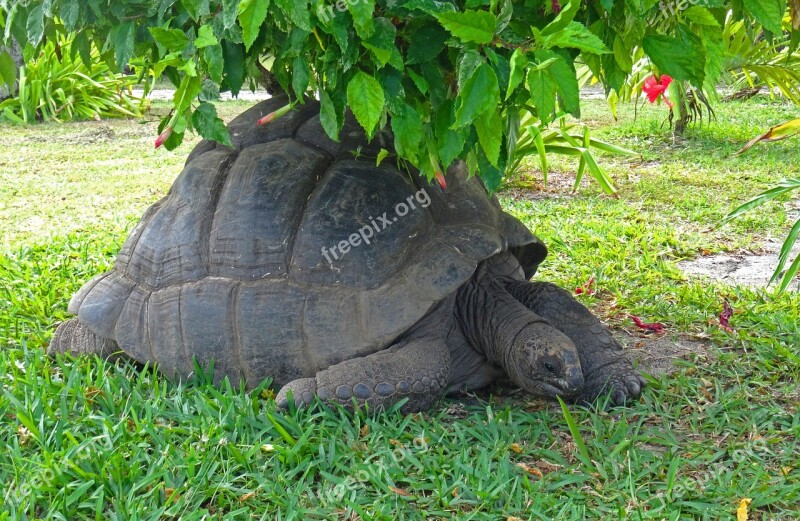
<instances>
[{"instance_id":1,"label":"whole giant grey tortoise resting on grass under the bush","mask_svg":"<svg viewBox=\"0 0 800 521\"><path fill-rule=\"evenodd\" d=\"M270 125L276 97L230 125L233 149L202 142L142 217L113 270L70 302L48 352L124 353L185 378L272 378L288 406L430 407L510 378L540 396L622 404L644 381L617 341L558 287L528 282L546 248L469 178L447 190L374 157L348 116L328 139L308 102ZM352 150L361 149L362 158ZM422 204L425 191L429 205ZM329 249L398 201L418 207L335 262ZM341 253L341 249L339 250Z\"/></svg>"}]
</instances>

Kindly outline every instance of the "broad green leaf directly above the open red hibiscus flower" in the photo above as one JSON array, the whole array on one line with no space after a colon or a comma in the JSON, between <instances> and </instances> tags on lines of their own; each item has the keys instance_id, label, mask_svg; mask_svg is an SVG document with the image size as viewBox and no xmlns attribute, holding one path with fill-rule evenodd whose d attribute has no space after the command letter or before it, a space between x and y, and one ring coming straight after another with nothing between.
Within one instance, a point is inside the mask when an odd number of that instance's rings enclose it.
<instances>
[{"instance_id":1,"label":"broad green leaf directly above the open red hibiscus flower","mask_svg":"<svg viewBox=\"0 0 800 521\"><path fill-rule=\"evenodd\" d=\"M678 26L677 38L650 34L645 36L642 46L662 73L702 87L705 78L705 48L700 38L683 24Z\"/></svg>"}]
</instances>

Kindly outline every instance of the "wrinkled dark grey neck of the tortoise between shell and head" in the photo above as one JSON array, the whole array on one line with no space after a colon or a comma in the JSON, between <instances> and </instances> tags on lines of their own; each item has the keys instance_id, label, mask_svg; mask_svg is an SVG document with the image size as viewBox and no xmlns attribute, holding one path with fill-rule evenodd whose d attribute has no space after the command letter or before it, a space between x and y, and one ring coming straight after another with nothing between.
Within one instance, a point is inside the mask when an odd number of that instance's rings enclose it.
<instances>
[{"instance_id":1,"label":"wrinkled dark grey neck of the tortoise between shell and head","mask_svg":"<svg viewBox=\"0 0 800 521\"><path fill-rule=\"evenodd\" d=\"M512 346L527 326L544 322L515 299L487 263L458 291L455 317L467 342L508 374L513 371Z\"/></svg>"}]
</instances>

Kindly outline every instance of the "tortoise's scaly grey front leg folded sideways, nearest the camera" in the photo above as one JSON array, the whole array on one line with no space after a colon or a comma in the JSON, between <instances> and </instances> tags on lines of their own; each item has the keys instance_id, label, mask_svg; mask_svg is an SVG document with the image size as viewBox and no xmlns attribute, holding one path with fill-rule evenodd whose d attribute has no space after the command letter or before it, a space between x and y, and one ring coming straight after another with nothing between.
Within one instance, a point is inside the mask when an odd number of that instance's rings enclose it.
<instances>
[{"instance_id":1,"label":"tortoise's scaly grey front leg folded sideways, nearest the camera","mask_svg":"<svg viewBox=\"0 0 800 521\"><path fill-rule=\"evenodd\" d=\"M450 353L439 338L414 338L371 355L346 360L284 385L275 401L286 408L291 391L296 405L318 397L352 409L389 408L403 398L403 412L429 408L447 389Z\"/></svg>"}]
</instances>

